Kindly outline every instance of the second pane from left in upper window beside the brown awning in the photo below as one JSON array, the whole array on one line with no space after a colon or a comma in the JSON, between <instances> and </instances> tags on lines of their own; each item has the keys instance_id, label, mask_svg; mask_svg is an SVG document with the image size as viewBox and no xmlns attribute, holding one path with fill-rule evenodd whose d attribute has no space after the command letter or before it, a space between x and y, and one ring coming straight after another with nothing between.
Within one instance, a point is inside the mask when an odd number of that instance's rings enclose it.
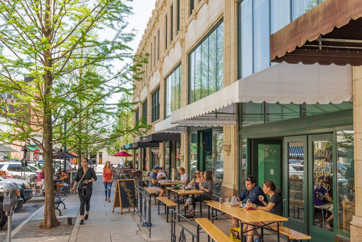
<instances>
[{"instance_id":1,"label":"second pane from left in upper window beside the brown awning","mask_svg":"<svg viewBox=\"0 0 362 242\"><path fill-rule=\"evenodd\" d=\"M269 1L254 1L254 73L269 67Z\"/></svg>"}]
</instances>

